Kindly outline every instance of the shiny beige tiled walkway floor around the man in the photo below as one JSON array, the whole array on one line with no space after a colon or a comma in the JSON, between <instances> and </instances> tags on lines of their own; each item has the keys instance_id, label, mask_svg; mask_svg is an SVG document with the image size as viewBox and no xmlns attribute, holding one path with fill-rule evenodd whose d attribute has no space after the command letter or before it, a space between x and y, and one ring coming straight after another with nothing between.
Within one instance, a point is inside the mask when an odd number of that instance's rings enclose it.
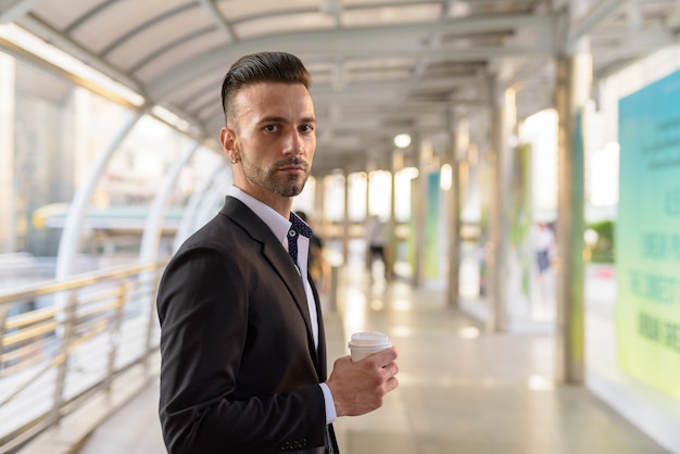
<instances>
[{"instance_id":1,"label":"shiny beige tiled walkway floor around the man","mask_svg":"<svg viewBox=\"0 0 680 454\"><path fill-rule=\"evenodd\" d=\"M348 333L387 332L400 387L382 408L337 423L343 454L654 454L654 441L583 387L554 380L550 335L486 333L441 289L343 278L328 314L329 356ZM332 364L332 362L331 362ZM153 386L102 426L84 454L164 453Z\"/></svg>"}]
</instances>

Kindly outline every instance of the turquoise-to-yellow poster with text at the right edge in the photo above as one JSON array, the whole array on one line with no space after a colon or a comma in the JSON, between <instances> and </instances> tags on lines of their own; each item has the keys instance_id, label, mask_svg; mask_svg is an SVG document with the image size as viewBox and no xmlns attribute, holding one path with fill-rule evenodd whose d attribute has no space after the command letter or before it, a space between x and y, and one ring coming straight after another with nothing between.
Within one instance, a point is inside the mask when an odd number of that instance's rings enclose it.
<instances>
[{"instance_id":1,"label":"turquoise-to-yellow poster with text at the right edge","mask_svg":"<svg viewBox=\"0 0 680 454\"><path fill-rule=\"evenodd\" d=\"M680 72L619 102L617 355L680 400Z\"/></svg>"}]
</instances>

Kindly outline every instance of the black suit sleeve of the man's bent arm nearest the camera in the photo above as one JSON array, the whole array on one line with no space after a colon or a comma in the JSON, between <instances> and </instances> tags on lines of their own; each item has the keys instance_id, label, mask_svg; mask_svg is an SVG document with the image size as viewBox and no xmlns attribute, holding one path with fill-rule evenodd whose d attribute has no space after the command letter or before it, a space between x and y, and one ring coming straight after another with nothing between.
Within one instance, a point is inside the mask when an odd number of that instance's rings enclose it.
<instances>
[{"instance_id":1,"label":"black suit sleeve of the man's bent arm nearest the camera","mask_svg":"<svg viewBox=\"0 0 680 454\"><path fill-rule=\"evenodd\" d=\"M234 396L249 327L248 280L239 269L216 251L188 250L163 276L160 416L169 454L262 454L325 443L318 384Z\"/></svg>"}]
</instances>

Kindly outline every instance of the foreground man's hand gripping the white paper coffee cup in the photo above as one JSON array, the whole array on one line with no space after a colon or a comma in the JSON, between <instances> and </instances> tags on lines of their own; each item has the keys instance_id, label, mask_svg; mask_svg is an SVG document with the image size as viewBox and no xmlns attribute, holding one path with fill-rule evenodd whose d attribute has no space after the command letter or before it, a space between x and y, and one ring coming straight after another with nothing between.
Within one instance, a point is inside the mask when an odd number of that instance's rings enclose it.
<instances>
[{"instance_id":1,"label":"foreground man's hand gripping the white paper coffee cup","mask_svg":"<svg viewBox=\"0 0 680 454\"><path fill-rule=\"evenodd\" d=\"M358 416L382 406L385 394L399 384L396 356L392 346L356 363L350 356L336 360L326 384L338 416Z\"/></svg>"}]
</instances>

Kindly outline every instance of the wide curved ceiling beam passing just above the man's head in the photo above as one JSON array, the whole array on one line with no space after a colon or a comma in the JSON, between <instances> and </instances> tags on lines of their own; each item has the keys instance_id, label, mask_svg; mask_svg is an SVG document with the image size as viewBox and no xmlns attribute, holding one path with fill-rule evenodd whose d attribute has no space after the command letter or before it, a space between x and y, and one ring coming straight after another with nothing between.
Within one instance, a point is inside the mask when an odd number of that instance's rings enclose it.
<instances>
[{"instance_id":1,"label":"wide curved ceiling beam passing just above the man's head","mask_svg":"<svg viewBox=\"0 0 680 454\"><path fill-rule=\"evenodd\" d=\"M508 54L553 53L554 40L550 38L552 34L547 34L546 30L554 27L554 23L555 16L550 15L513 15L443 21L435 24L267 36L196 55L189 61L181 62L177 67L166 71L156 80L149 84L147 89L153 98L162 99L206 71L221 68L226 72L225 62L232 62L241 55L272 48L295 53L305 62L326 59L329 54L336 55L337 59L375 59L376 55L380 55L379 58L383 59L402 56L467 61L507 56ZM428 34L464 35L508 30L518 27L534 29L541 39L537 39L533 45L484 48L456 46L432 48L423 43L421 39Z\"/></svg>"}]
</instances>

